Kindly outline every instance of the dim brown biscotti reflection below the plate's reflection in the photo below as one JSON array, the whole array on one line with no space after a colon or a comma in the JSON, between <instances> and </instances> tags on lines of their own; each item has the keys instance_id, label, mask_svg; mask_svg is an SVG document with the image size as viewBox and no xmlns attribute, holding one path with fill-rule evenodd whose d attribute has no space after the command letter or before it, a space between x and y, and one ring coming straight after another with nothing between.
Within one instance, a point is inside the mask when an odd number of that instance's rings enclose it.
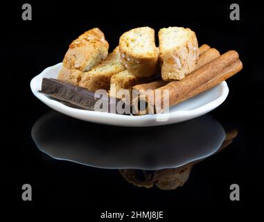
<instances>
[{"instance_id":1,"label":"dim brown biscotti reflection below the plate's reflection","mask_svg":"<svg viewBox=\"0 0 264 222\"><path fill-rule=\"evenodd\" d=\"M182 187L188 180L192 169L191 164L175 169L161 169L158 171L143 171L135 169L121 169L119 172L133 185L138 187L153 187L156 185L159 189L177 189Z\"/></svg>"}]
</instances>

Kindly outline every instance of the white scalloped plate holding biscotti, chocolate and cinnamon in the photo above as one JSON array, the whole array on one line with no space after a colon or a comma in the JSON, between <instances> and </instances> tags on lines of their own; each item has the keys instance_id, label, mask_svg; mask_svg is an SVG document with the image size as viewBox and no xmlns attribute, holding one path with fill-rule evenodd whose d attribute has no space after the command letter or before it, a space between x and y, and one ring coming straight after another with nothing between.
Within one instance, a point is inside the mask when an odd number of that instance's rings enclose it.
<instances>
[{"instance_id":1,"label":"white scalloped plate holding biscotti, chocolate and cinnamon","mask_svg":"<svg viewBox=\"0 0 264 222\"><path fill-rule=\"evenodd\" d=\"M207 90L206 92L203 92L191 99L171 107L168 114L127 116L121 114L80 110L71 108L60 103L59 101L49 99L48 96L38 92L41 89L42 78L57 78L61 68L62 63L48 67L44 69L41 74L35 76L31 80L30 88L37 99L48 105L53 110L67 114L70 117L114 126L160 126L193 119L217 108L218 105L225 101L229 92L227 83L224 81L219 85Z\"/></svg>"}]
</instances>

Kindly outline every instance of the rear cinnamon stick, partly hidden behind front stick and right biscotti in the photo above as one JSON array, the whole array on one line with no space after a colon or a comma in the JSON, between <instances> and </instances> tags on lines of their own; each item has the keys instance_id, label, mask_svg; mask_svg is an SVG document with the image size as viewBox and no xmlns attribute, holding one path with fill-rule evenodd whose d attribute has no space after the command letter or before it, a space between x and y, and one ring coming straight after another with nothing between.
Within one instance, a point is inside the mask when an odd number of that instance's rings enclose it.
<instances>
[{"instance_id":1,"label":"rear cinnamon stick, partly hidden behind front stick and right biscotti","mask_svg":"<svg viewBox=\"0 0 264 222\"><path fill-rule=\"evenodd\" d=\"M195 69L202 67L203 65L207 64L208 62L211 62L212 60L220 56L220 53L218 50L210 49L210 46L206 44L203 44L202 46L200 46L199 51L200 51L200 56L197 60L197 65ZM132 88L140 92L140 90L142 89L144 91L148 89L157 89L159 87L163 87L166 84L168 84L168 82L164 80L156 80L152 83L143 83L143 84L135 85Z\"/></svg>"}]
</instances>

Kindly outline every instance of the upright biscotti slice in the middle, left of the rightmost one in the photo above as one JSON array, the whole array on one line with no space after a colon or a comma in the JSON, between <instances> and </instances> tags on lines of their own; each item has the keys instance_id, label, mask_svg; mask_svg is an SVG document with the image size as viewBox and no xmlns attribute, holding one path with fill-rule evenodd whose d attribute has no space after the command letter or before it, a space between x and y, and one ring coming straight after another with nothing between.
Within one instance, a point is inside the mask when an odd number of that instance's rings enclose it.
<instances>
[{"instance_id":1,"label":"upright biscotti slice in the middle, left of the rightmost one","mask_svg":"<svg viewBox=\"0 0 264 222\"><path fill-rule=\"evenodd\" d=\"M155 31L149 27L134 28L119 39L121 61L134 76L152 76L157 71L159 50L155 45Z\"/></svg>"}]
</instances>

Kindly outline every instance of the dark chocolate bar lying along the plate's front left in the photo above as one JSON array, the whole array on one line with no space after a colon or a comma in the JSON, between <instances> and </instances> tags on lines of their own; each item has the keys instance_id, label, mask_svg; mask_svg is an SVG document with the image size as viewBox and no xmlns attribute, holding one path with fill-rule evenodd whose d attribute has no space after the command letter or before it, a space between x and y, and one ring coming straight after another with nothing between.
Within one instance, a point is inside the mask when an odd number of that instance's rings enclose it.
<instances>
[{"instance_id":1,"label":"dark chocolate bar lying along the plate's front left","mask_svg":"<svg viewBox=\"0 0 264 222\"><path fill-rule=\"evenodd\" d=\"M124 103L123 105L125 105L124 101L110 97L108 95L96 98L95 93L89 91L88 89L71 85L55 78L43 78L42 89L39 92L51 96L53 99L59 100L65 105L73 108L80 108L82 110L85 109L98 111L95 110L94 106L99 100L100 102L107 104L107 110L102 112L117 113L116 104L121 102Z\"/></svg>"}]
</instances>

